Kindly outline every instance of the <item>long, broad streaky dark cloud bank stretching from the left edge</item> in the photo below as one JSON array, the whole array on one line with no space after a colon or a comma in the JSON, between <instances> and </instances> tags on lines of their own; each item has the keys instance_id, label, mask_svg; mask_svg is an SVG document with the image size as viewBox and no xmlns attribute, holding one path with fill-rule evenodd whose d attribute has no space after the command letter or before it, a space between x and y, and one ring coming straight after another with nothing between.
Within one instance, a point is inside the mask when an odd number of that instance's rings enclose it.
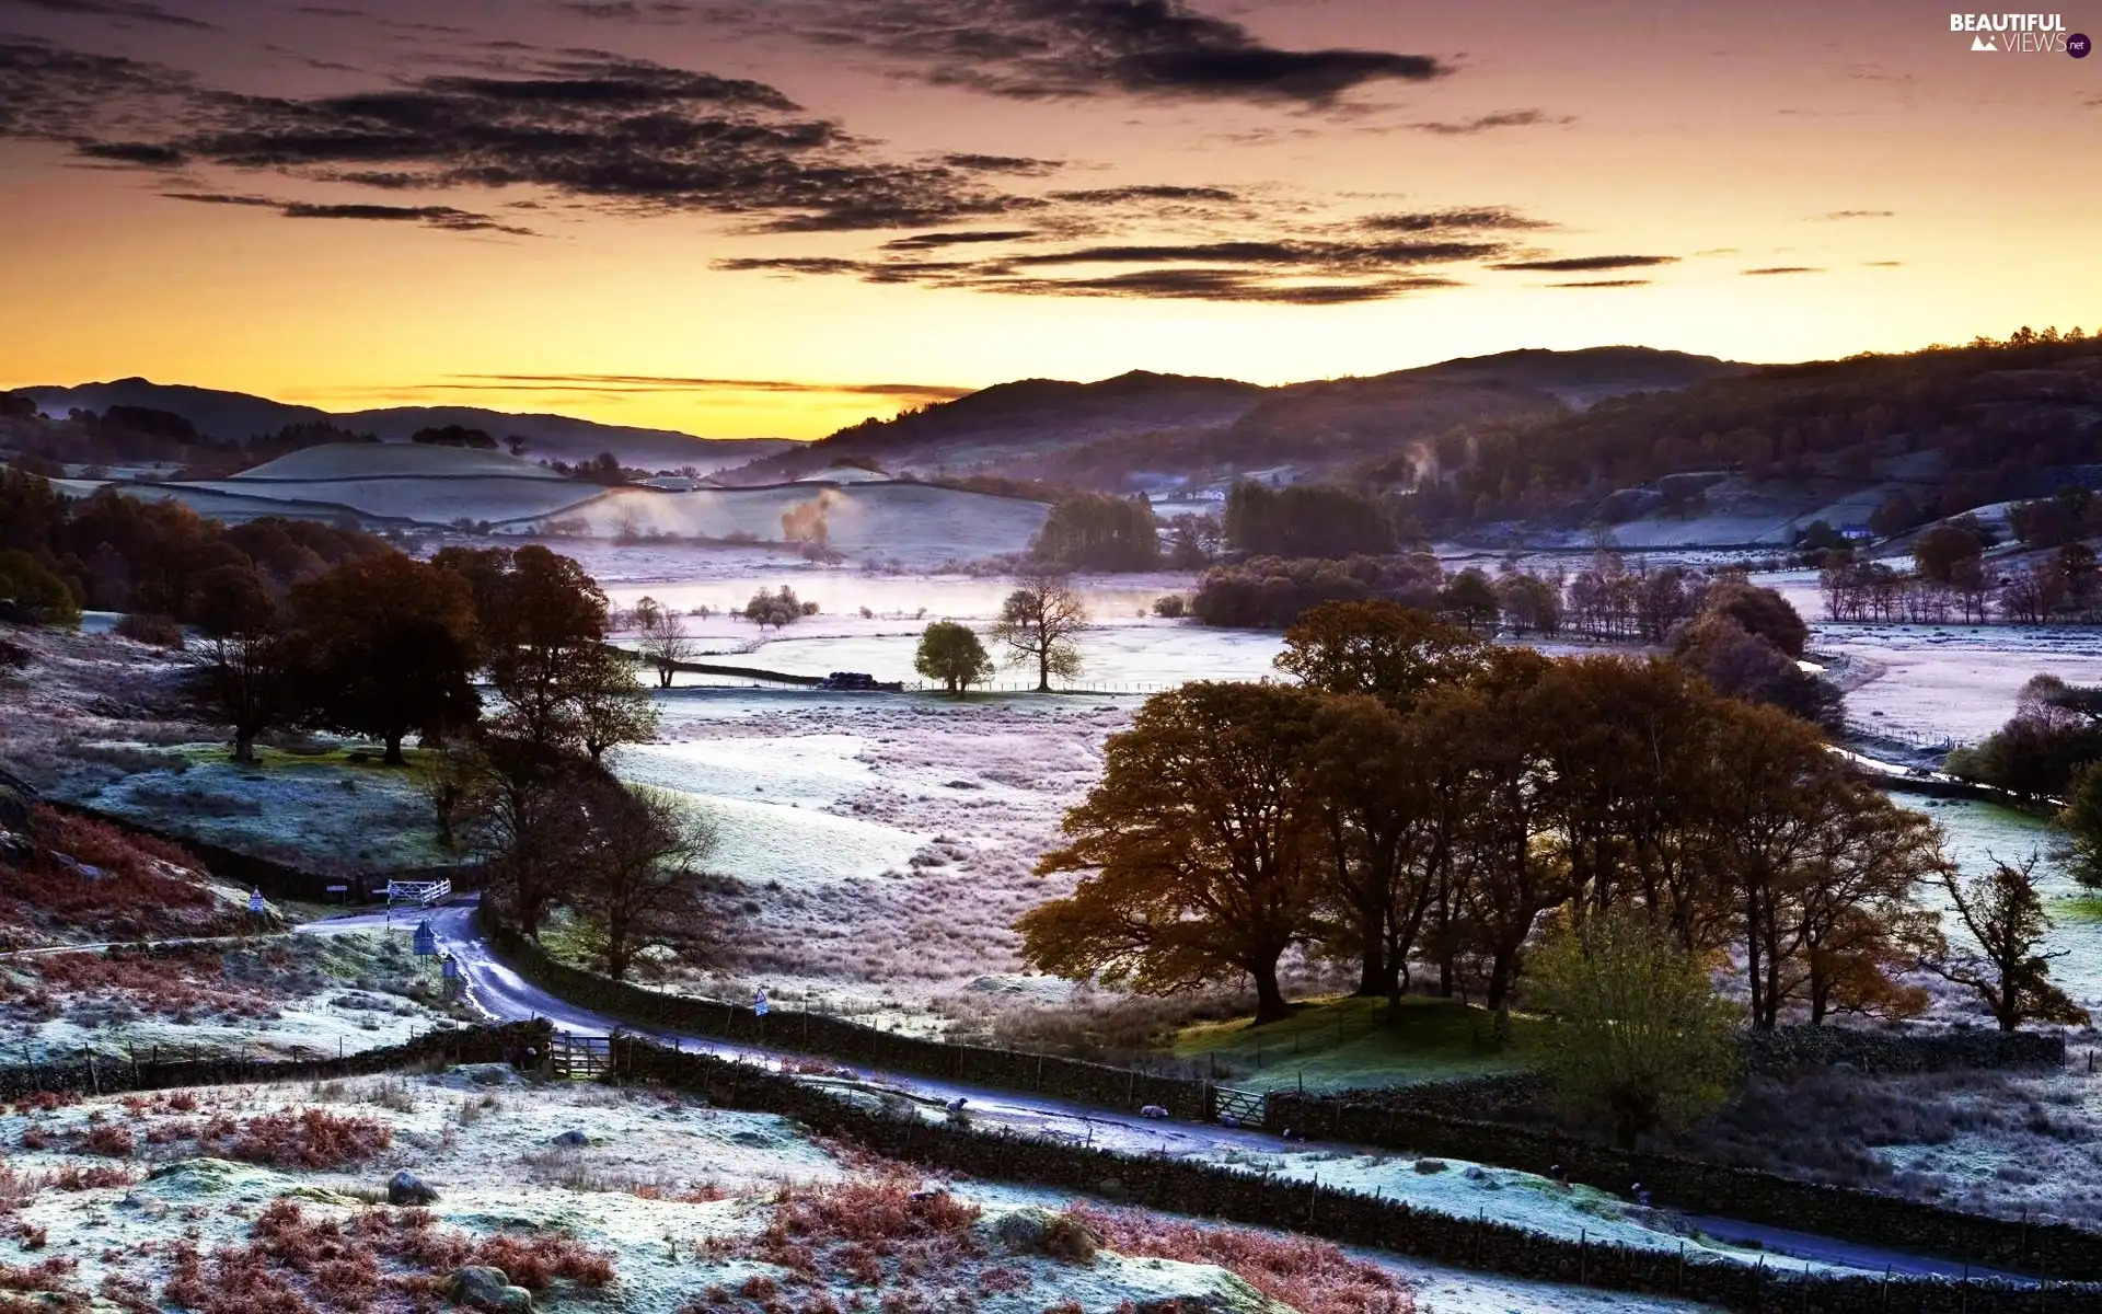
<instances>
[{"instance_id":1,"label":"long, broad streaky dark cloud bank stretching from the left edge","mask_svg":"<svg viewBox=\"0 0 2102 1314\"><path fill-rule=\"evenodd\" d=\"M147 124L158 130L141 132ZM1045 204L984 181L1045 162L893 162L763 82L607 57L286 99L6 44L0 137L69 141L114 164L183 160L393 191L534 187L601 210L729 214L763 231L937 227Z\"/></svg>"}]
</instances>

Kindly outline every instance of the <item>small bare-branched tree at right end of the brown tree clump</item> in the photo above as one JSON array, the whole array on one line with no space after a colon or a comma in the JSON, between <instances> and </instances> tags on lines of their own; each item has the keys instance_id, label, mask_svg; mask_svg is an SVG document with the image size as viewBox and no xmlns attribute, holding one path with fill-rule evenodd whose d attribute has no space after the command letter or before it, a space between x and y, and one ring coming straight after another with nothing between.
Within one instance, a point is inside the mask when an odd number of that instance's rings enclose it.
<instances>
[{"instance_id":1,"label":"small bare-branched tree at right end of the brown tree clump","mask_svg":"<svg viewBox=\"0 0 2102 1314\"><path fill-rule=\"evenodd\" d=\"M2087 1022L2087 1011L2049 980L2052 959L2066 950L2043 952L2052 919L2043 912L2035 868L2031 854L2020 864L1995 860L1988 875L1970 881L1955 868L1942 875L1957 919L1978 948L1932 954L1925 967L1974 990L2001 1030L2024 1022Z\"/></svg>"}]
</instances>

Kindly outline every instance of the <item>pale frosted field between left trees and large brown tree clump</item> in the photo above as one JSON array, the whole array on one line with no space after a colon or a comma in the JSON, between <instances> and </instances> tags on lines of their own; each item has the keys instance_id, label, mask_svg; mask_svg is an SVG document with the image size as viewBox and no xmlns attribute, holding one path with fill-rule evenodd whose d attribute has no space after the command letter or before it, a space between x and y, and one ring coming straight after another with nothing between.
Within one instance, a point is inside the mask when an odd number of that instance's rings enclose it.
<instances>
[{"instance_id":1,"label":"pale frosted field between left trees and large brown tree clump","mask_svg":"<svg viewBox=\"0 0 2102 1314\"><path fill-rule=\"evenodd\" d=\"M1030 868L1135 702L675 690L616 769L715 818L738 988L893 1009L1019 967L1009 925L1068 887Z\"/></svg>"}]
</instances>

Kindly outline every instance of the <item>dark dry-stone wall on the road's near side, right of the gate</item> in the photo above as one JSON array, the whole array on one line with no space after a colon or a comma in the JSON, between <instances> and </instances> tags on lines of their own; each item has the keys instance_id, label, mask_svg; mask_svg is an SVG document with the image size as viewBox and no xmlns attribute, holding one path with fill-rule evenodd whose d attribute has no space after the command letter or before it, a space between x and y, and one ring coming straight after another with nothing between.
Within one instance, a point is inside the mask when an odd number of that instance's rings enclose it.
<instances>
[{"instance_id":1,"label":"dark dry-stone wall on the road's near side, right of the gate","mask_svg":"<svg viewBox=\"0 0 2102 1314\"><path fill-rule=\"evenodd\" d=\"M984 1133L923 1116L887 1116L790 1076L614 1039L612 1079L698 1091L725 1108L790 1116L822 1135L908 1163L1108 1196L1190 1217L1291 1228L1480 1272L1707 1301L1745 1314L2102 1314L2102 1287L1999 1280L1780 1274L1778 1268L1679 1249L1600 1245L1482 1217L1417 1209L1383 1194L1335 1190L1209 1163L1120 1156L1072 1142Z\"/></svg>"}]
</instances>

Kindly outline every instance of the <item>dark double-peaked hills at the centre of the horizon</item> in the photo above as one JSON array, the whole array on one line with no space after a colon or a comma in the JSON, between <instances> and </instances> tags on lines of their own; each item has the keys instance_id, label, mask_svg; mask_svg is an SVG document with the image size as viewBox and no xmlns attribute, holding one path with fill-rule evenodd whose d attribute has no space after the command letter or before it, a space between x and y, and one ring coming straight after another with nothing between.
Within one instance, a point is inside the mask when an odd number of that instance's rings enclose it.
<instances>
[{"instance_id":1,"label":"dark double-peaked hills at the centre of the horizon","mask_svg":"<svg viewBox=\"0 0 2102 1314\"><path fill-rule=\"evenodd\" d=\"M1679 351L1600 347L1509 351L1284 387L1141 370L1099 383L1026 378L893 420L866 420L725 477L776 481L832 460L1114 492L1246 473L1320 477L1457 425L1564 414L1745 368Z\"/></svg>"}]
</instances>

